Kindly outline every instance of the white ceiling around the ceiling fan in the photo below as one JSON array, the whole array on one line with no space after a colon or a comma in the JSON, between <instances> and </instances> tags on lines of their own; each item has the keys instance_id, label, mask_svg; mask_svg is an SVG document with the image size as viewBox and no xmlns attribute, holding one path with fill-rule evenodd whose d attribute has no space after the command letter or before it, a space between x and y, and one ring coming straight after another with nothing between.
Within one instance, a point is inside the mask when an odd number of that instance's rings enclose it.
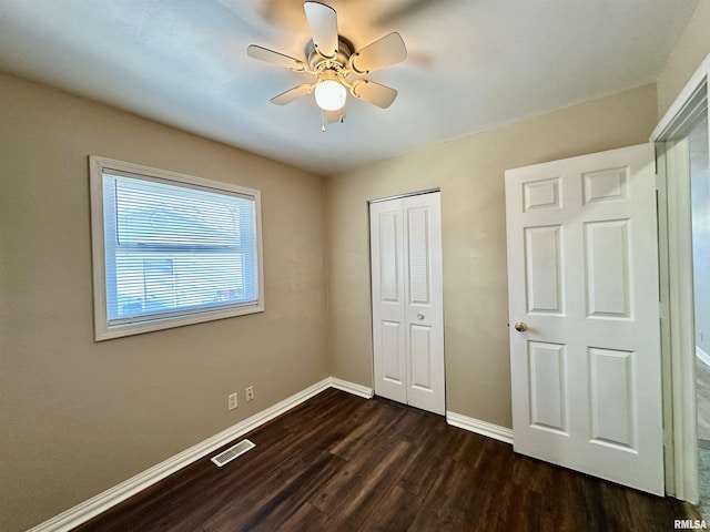
<instances>
[{"instance_id":1,"label":"white ceiling around the ceiling fan","mask_svg":"<svg viewBox=\"0 0 710 532\"><path fill-rule=\"evenodd\" d=\"M348 100L321 132L302 0L1 0L0 69L318 175L653 82L698 0L324 0L359 49L397 31L408 59L372 74L399 96Z\"/></svg>"}]
</instances>

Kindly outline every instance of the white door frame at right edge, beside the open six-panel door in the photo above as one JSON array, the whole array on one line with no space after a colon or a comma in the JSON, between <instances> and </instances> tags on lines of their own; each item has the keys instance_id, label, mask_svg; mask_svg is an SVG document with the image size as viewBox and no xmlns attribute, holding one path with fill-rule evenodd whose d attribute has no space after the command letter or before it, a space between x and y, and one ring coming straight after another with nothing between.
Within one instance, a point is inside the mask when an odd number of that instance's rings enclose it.
<instances>
[{"instance_id":1,"label":"white door frame at right edge, beside the open six-panel door","mask_svg":"<svg viewBox=\"0 0 710 532\"><path fill-rule=\"evenodd\" d=\"M692 233L687 143L678 141L708 114L709 82L710 54L650 136L658 164L666 492L692 503L699 500Z\"/></svg>"}]
</instances>

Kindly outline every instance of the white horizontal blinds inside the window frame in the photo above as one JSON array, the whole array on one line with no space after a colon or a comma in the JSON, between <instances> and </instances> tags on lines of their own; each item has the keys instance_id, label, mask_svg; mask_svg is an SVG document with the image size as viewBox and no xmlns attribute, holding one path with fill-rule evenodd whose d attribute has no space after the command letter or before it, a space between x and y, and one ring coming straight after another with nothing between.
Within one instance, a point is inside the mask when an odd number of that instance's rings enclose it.
<instances>
[{"instance_id":1,"label":"white horizontal blinds inside the window frame","mask_svg":"<svg viewBox=\"0 0 710 532\"><path fill-rule=\"evenodd\" d=\"M103 173L109 326L255 305L253 196Z\"/></svg>"}]
</instances>

